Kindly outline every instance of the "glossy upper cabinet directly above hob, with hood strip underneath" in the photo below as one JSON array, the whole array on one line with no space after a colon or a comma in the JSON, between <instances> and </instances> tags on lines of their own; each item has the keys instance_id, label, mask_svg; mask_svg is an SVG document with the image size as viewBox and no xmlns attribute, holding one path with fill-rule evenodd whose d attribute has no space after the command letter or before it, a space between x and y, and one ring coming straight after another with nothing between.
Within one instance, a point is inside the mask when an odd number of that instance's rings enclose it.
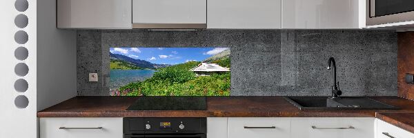
<instances>
[{"instance_id":1,"label":"glossy upper cabinet directly above hob, with hood strip underneath","mask_svg":"<svg viewBox=\"0 0 414 138\"><path fill-rule=\"evenodd\" d=\"M132 28L206 28L206 0L132 0Z\"/></svg>"}]
</instances>

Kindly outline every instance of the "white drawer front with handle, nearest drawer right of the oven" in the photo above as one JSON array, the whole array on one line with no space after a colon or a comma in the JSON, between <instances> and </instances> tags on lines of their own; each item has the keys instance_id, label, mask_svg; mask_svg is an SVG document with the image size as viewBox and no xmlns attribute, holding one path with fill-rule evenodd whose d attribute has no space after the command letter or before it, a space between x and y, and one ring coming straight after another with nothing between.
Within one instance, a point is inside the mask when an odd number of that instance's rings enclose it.
<instances>
[{"instance_id":1,"label":"white drawer front with handle, nearest drawer right of the oven","mask_svg":"<svg viewBox=\"0 0 414 138\"><path fill-rule=\"evenodd\" d=\"M228 118L228 138L286 138L289 133L289 118Z\"/></svg>"}]
</instances>

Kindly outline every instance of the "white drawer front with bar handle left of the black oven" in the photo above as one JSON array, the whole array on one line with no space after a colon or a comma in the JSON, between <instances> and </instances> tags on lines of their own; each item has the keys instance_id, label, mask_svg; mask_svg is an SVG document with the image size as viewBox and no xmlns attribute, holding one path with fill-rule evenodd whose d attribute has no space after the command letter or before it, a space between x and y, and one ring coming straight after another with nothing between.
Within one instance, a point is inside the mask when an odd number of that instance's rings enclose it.
<instances>
[{"instance_id":1,"label":"white drawer front with bar handle left of the black oven","mask_svg":"<svg viewBox=\"0 0 414 138\"><path fill-rule=\"evenodd\" d=\"M61 128L65 127L65 128ZM98 127L101 127L100 129ZM122 118L46 117L39 119L41 138L122 138Z\"/></svg>"}]
</instances>

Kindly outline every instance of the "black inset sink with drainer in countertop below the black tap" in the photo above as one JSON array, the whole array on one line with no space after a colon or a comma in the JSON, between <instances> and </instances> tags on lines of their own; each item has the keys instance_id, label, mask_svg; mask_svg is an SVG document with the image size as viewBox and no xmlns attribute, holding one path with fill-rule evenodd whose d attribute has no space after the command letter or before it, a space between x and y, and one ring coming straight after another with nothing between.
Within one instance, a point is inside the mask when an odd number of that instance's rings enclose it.
<instances>
[{"instance_id":1,"label":"black inset sink with drainer in countertop below the black tap","mask_svg":"<svg viewBox=\"0 0 414 138\"><path fill-rule=\"evenodd\" d=\"M396 110L394 106L370 99L368 97L284 97L300 110L326 109L365 109L365 110Z\"/></svg>"}]
</instances>

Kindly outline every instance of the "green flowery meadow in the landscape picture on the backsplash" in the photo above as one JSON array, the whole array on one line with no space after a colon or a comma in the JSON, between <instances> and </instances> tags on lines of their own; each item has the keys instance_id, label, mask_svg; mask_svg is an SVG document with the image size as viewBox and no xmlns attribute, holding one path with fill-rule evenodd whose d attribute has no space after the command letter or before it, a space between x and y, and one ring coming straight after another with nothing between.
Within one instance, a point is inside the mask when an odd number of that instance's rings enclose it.
<instances>
[{"instance_id":1,"label":"green flowery meadow in the landscape picture on the backsplash","mask_svg":"<svg viewBox=\"0 0 414 138\"><path fill-rule=\"evenodd\" d=\"M120 96L229 96L230 72L196 77L189 70L199 63L191 61L159 68L150 79L129 83L113 93Z\"/></svg>"}]
</instances>

